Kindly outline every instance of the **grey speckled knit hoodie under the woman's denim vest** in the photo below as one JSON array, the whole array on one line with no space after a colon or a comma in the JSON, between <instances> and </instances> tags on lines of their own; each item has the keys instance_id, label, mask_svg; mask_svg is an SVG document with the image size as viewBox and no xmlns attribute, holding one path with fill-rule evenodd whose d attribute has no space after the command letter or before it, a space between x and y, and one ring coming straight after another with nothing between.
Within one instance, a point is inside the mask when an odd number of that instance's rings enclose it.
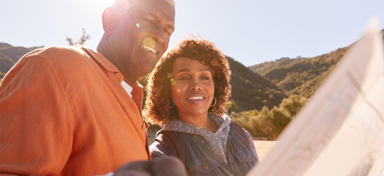
<instances>
[{"instance_id":1,"label":"grey speckled knit hoodie under the woman's denim vest","mask_svg":"<svg viewBox=\"0 0 384 176\"><path fill-rule=\"evenodd\" d=\"M227 116L227 114L224 114L221 117L215 116L213 114L208 114L208 117L212 119L219 127L215 133L205 129L201 129L194 125L185 123L183 121L180 121L179 119L171 119L164 125L164 127L161 130L157 132L156 137L163 131L176 131L176 132L200 135L203 140L202 142L206 143L209 146L209 148L211 148L219 158L221 158L223 161L225 161L225 163L228 164L228 161L227 161L228 152L227 152L226 146L227 146L229 124L231 123L231 119L230 117ZM257 156L255 145L253 144L251 135L247 130L244 130L244 131L245 131L245 134L247 134L253 153L255 153L255 156ZM151 146L149 146L149 150L151 150L152 160L155 160L156 158L168 156L168 153L165 147L157 141L155 141L154 143L152 143Z\"/></svg>"}]
</instances>

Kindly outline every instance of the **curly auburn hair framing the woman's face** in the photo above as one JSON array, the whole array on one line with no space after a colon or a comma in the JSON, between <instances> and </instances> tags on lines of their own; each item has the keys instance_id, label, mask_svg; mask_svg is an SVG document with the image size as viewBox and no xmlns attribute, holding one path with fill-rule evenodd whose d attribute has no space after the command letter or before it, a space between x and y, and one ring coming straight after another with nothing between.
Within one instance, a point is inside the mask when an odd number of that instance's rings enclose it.
<instances>
[{"instance_id":1,"label":"curly auburn hair framing the woman's face","mask_svg":"<svg viewBox=\"0 0 384 176\"><path fill-rule=\"evenodd\" d=\"M186 39L168 52L165 57L162 57L150 74L146 86L147 97L143 117L150 124L159 126L172 118L177 118L177 108L169 107L172 106L172 101L170 101L170 86L171 80L173 80L172 66L175 59L179 57L199 60L211 70L215 85L214 96L217 102L215 106L208 109L208 112L222 116L227 111L231 95L229 83L231 71L228 60L213 42L204 39Z\"/></svg>"}]
</instances>

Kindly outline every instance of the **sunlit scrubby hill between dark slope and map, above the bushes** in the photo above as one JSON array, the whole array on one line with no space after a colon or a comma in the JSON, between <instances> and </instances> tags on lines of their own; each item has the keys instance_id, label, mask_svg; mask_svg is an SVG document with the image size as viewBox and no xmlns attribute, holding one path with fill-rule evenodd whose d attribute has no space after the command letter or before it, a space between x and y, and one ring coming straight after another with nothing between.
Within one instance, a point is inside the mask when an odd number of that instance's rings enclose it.
<instances>
[{"instance_id":1,"label":"sunlit scrubby hill between dark slope and map, above the bushes","mask_svg":"<svg viewBox=\"0 0 384 176\"><path fill-rule=\"evenodd\" d=\"M384 29L381 33L384 38ZM316 57L296 59L283 57L249 68L268 78L287 95L310 98L352 45Z\"/></svg>"}]
</instances>

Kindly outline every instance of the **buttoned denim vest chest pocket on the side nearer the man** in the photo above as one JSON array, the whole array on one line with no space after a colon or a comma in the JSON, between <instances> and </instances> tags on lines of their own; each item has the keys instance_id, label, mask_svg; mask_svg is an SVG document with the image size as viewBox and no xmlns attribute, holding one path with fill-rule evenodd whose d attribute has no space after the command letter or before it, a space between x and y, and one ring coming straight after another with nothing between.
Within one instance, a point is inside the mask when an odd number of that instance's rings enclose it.
<instances>
[{"instance_id":1,"label":"buttoned denim vest chest pocket on the side nearer the man","mask_svg":"<svg viewBox=\"0 0 384 176\"><path fill-rule=\"evenodd\" d=\"M193 173L209 173L219 166L218 162L209 156L187 162L188 170Z\"/></svg>"}]
</instances>

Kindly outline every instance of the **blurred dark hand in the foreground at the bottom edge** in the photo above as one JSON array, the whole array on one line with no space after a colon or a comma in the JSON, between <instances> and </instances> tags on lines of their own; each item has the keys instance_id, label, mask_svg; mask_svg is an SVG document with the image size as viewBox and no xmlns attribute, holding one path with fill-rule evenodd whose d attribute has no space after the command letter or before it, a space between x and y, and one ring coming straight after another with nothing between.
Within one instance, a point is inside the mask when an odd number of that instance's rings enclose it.
<instances>
[{"instance_id":1,"label":"blurred dark hand in the foreground at the bottom edge","mask_svg":"<svg viewBox=\"0 0 384 176\"><path fill-rule=\"evenodd\" d=\"M114 176L187 176L183 163L173 156L153 161L127 163L115 171Z\"/></svg>"}]
</instances>

